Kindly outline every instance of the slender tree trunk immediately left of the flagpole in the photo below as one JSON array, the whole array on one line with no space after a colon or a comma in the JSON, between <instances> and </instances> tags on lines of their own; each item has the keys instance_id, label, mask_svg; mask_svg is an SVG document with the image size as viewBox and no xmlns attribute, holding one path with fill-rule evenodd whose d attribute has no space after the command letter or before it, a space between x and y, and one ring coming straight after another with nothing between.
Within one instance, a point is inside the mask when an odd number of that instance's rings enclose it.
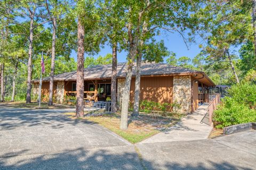
<instances>
[{"instance_id":1,"label":"slender tree trunk immediately left of the flagpole","mask_svg":"<svg viewBox=\"0 0 256 170\"><path fill-rule=\"evenodd\" d=\"M29 50L28 50L28 81L27 81L27 97L26 103L31 103L31 75L32 75L32 53L33 53L33 29L34 19L30 19L29 29Z\"/></svg>"}]
</instances>

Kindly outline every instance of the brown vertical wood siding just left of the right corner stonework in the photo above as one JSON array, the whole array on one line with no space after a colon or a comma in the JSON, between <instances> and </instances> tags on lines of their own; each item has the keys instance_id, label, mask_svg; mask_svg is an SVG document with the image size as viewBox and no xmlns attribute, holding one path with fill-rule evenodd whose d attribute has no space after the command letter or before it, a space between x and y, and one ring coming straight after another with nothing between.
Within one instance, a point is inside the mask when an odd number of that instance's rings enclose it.
<instances>
[{"instance_id":1,"label":"brown vertical wood siding just left of the right corner stonework","mask_svg":"<svg viewBox=\"0 0 256 170\"><path fill-rule=\"evenodd\" d=\"M172 103L172 77L142 77L140 82L140 100L158 103ZM132 78L130 100L133 103L135 78Z\"/></svg>"}]
</instances>

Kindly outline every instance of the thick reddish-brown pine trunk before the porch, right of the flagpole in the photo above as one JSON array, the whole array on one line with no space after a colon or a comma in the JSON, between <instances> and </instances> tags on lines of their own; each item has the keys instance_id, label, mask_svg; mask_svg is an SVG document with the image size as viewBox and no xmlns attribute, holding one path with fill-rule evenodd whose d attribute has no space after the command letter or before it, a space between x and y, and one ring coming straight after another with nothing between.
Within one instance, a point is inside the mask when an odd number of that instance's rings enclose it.
<instances>
[{"instance_id":1,"label":"thick reddish-brown pine trunk before the porch, right of the flagpole","mask_svg":"<svg viewBox=\"0 0 256 170\"><path fill-rule=\"evenodd\" d=\"M80 18L77 24L77 39L76 117L82 117L84 116L84 25Z\"/></svg>"}]
</instances>

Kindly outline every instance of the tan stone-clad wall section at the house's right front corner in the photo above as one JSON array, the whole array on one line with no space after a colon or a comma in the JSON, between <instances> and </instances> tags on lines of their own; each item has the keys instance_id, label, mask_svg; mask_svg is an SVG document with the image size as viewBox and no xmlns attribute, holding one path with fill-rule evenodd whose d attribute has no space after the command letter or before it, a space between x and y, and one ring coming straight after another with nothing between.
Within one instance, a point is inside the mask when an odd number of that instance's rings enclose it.
<instances>
[{"instance_id":1,"label":"tan stone-clad wall section at the house's right front corner","mask_svg":"<svg viewBox=\"0 0 256 170\"><path fill-rule=\"evenodd\" d=\"M191 76L173 77L173 102L180 105L176 111L182 114L191 113Z\"/></svg>"}]
</instances>

